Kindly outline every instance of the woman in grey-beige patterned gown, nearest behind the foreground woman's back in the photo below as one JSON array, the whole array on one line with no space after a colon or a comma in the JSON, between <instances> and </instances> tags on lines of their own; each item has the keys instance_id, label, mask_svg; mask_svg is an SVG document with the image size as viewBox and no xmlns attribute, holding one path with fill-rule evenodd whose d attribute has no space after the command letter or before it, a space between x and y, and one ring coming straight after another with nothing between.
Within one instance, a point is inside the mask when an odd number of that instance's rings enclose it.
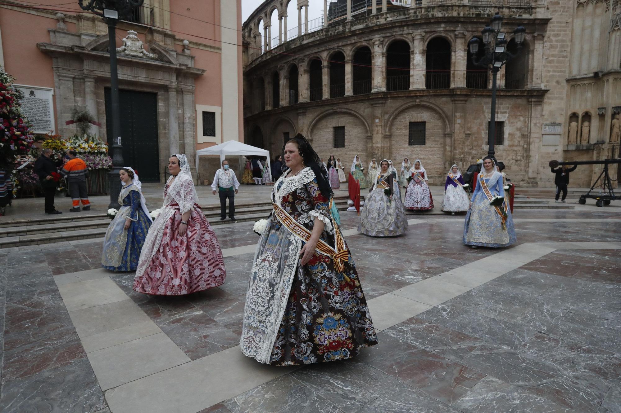
<instances>
[{"instance_id":1,"label":"woman in grey-beige patterned gown, nearest behind the foreground woman's back","mask_svg":"<svg viewBox=\"0 0 621 413\"><path fill-rule=\"evenodd\" d=\"M388 160L379 162L380 170L360 212L358 232L374 237L392 237L406 233L407 218L401 198L394 196L399 182L389 171Z\"/></svg>"}]
</instances>

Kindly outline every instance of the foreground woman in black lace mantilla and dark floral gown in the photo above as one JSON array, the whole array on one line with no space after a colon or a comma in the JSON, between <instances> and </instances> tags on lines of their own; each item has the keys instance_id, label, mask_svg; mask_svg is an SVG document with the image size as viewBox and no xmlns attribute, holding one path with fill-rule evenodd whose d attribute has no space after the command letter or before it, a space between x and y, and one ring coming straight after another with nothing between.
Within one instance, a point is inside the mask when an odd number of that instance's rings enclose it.
<instances>
[{"instance_id":1,"label":"foreground woman in black lace mantilla and dark floral gown","mask_svg":"<svg viewBox=\"0 0 621 413\"><path fill-rule=\"evenodd\" d=\"M358 272L330 215L325 169L301 134L286 142L288 170L256 246L240 348L286 366L355 357L377 344Z\"/></svg>"}]
</instances>

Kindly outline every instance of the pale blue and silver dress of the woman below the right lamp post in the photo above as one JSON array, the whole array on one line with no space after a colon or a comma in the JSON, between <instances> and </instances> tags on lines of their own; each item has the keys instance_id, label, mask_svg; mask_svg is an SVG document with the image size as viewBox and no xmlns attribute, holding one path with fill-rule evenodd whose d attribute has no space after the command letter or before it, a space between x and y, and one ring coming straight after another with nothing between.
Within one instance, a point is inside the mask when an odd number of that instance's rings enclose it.
<instances>
[{"instance_id":1,"label":"pale blue and silver dress of the woman below the right lamp post","mask_svg":"<svg viewBox=\"0 0 621 413\"><path fill-rule=\"evenodd\" d=\"M503 227L501 216L496 208L489 204L489 198L481 185L481 180L484 179L492 197L496 195L504 197L502 175L500 172L494 172L491 178L483 176L479 174L477 177L478 182L471 198L472 207L468 210L464 223L463 243L480 247L508 247L517 241L511 210L507 208L507 218ZM501 210L504 209L505 205L502 205Z\"/></svg>"}]
</instances>

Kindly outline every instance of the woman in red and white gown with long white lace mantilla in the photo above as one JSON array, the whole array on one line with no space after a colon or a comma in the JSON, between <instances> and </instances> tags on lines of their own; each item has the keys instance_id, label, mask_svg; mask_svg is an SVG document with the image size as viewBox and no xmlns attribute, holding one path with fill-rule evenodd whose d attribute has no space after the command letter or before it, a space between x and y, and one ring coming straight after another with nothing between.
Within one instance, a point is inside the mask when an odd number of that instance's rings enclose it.
<instances>
[{"instance_id":1,"label":"woman in red and white gown with long white lace mantilla","mask_svg":"<svg viewBox=\"0 0 621 413\"><path fill-rule=\"evenodd\" d=\"M184 295L222 285L222 250L198 205L188 159L168 159L171 177L164 205L140 253L134 290L150 295Z\"/></svg>"}]
</instances>

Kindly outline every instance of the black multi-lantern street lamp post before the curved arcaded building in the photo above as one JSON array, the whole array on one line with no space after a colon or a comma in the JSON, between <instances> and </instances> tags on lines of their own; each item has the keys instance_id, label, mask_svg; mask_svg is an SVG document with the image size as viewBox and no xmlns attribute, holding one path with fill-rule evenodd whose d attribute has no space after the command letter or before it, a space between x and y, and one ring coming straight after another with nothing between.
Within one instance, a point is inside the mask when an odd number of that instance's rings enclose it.
<instances>
[{"instance_id":1,"label":"black multi-lantern street lamp post before the curved arcaded building","mask_svg":"<svg viewBox=\"0 0 621 413\"><path fill-rule=\"evenodd\" d=\"M468 43L474 65L492 71L492 107L489 130L487 131L487 144L489 146L487 155L494 159L496 159L494 156L494 143L496 142L496 77L502 66L516 56L507 50L507 33L501 32L501 27L502 16L496 13L496 16L492 17L491 26L486 25L485 29L481 30L485 54L478 60L476 54L479 51L481 39L473 37ZM515 45L517 45L518 48L521 48L522 43L524 43L525 32L526 29L522 26L517 27L517 29L513 31Z\"/></svg>"}]
</instances>

